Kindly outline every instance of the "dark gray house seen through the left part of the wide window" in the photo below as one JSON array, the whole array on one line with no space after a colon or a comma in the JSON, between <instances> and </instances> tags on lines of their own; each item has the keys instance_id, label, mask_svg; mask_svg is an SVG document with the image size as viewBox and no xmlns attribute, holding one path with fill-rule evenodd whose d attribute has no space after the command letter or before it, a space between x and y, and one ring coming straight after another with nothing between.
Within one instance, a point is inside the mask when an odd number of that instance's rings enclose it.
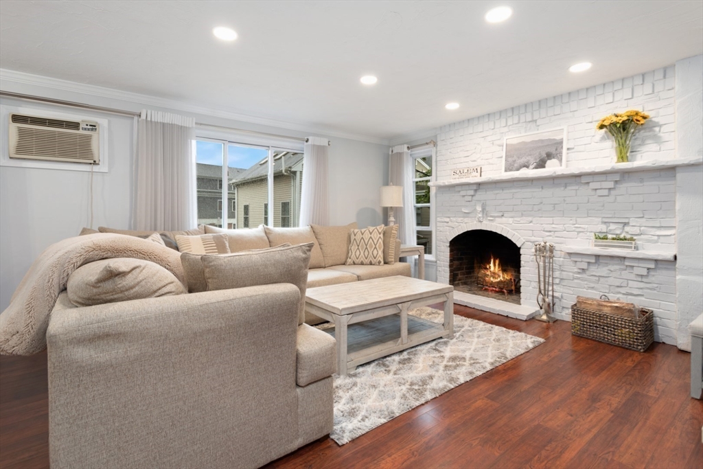
<instances>
[{"instance_id":1,"label":"dark gray house seen through the left part of the wide window","mask_svg":"<svg viewBox=\"0 0 703 469\"><path fill-rule=\"evenodd\" d=\"M232 181L245 169L228 168L228 181ZM217 165L196 165L198 190L198 224L222 227L222 167ZM236 191L228 184L227 228L236 228Z\"/></svg>"}]
</instances>

